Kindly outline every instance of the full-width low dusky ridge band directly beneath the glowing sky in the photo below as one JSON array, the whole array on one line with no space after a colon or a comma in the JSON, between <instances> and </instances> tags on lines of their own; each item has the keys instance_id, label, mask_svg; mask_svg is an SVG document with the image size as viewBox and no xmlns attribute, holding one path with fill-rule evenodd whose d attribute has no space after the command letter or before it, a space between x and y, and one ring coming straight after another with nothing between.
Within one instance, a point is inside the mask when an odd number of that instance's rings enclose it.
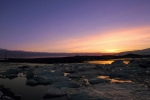
<instances>
[{"instance_id":1,"label":"full-width low dusky ridge band directly beneath the glowing sky","mask_svg":"<svg viewBox=\"0 0 150 100\"><path fill-rule=\"evenodd\" d=\"M142 50L132 50L120 53L49 53L49 52L32 52L22 50L7 50L0 48L0 58L47 58L47 57L66 57L66 56L102 56L102 55L118 55L127 54L150 55L150 48Z\"/></svg>"}]
</instances>

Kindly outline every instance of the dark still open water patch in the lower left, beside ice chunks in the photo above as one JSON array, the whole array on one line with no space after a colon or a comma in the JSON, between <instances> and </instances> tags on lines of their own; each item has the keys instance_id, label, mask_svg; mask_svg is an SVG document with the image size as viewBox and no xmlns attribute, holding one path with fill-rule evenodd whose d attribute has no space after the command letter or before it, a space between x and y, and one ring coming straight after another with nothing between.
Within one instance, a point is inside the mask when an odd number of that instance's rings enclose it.
<instances>
[{"instance_id":1,"label":"dark still open water patch in the lower left, beside ice chunks","mask_svg":"<svg viewBox=\"0 0 150 100\"><path fill-rule=\"evenodd\" d=\"M0 85L10 88L12 92L21 95L21 100L45 100L43 93L47 90L48 86L27 86L25 77L17 77L15 79L2 79L0 78ZM66 97L51 98L50 100L67 100Z\"/></svg>"}]
</instances>

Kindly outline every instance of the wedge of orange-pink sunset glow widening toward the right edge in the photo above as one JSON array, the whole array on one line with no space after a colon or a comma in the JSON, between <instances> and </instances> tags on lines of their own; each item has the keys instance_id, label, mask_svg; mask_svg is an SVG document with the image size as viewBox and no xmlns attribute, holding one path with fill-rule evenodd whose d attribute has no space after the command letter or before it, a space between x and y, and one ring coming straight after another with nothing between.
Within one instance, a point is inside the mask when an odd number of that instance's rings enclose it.
<instances>
[{"instance_id":1,"label":"wedge of orange-pink sunset glow widening toward the right edge","mask_svg":"<svg viewBox=\"0 0 150 100\"><path fill-rule=\"evenodd\" d=\"M37 43L23 46L21 49L43 52L117 53L149 48L149 46L150 26L145 26L109 30L102 33L97 31L94 35L56 40L55 43L51 43L47 40L40 42L40 44Z\"/></svg>"}]
</instances>

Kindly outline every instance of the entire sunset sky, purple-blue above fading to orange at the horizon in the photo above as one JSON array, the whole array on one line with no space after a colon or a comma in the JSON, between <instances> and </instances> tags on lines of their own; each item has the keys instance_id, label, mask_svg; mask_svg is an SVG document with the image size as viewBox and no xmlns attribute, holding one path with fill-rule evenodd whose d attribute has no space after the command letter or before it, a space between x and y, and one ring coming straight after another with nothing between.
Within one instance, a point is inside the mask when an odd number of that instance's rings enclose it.
<instances>
[{"instance_id":1,"label":"entire sunset sky, purple-blue above fading to orange at the horizon","mask_svg":"<svg viewBox=\"0 0 150 100\"><path fill-rule=\"evenodd\" d=\"M150 0L0 0L0 48L57 53L150 48Z\"/></svg>"}]
</instances>

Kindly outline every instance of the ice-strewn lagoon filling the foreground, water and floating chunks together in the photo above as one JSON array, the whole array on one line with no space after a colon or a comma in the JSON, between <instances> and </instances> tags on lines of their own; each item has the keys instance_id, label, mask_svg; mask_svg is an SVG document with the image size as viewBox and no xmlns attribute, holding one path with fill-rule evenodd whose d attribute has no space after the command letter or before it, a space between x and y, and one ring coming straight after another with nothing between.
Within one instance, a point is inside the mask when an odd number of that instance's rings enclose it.
<instances>
[{"instance_id":1,"label":"ice-strewn lagoon filling the foreground, water and floating chunks together","mask_svg":"<svg viewBox=\"0 0 150 100\"><path fill-rule=\"evenodd\" d=\"M0 85L21 100L150 100L150 67L145 61L102 62L0 63Z\"/></svg>"}]
</instances>

